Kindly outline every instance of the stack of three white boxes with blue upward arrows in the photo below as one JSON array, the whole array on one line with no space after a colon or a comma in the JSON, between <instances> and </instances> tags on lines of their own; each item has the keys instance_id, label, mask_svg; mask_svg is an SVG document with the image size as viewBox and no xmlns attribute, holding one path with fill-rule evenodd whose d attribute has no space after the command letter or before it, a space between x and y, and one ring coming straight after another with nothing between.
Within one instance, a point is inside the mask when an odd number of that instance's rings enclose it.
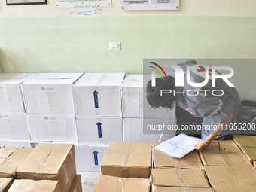
<instances>
[{"instance_id":1,"label":"stack of three white boxes with blue upward arrows","mask_svg":"<svg viewBox=\"0 0 256 192\"><path fill-rule=\"evenodd\" d=\"M78 143L76 169L100 172L110 142L122 142L121 84L125 73L85 73L72 86Z\"/></svg>"}]
</instances>

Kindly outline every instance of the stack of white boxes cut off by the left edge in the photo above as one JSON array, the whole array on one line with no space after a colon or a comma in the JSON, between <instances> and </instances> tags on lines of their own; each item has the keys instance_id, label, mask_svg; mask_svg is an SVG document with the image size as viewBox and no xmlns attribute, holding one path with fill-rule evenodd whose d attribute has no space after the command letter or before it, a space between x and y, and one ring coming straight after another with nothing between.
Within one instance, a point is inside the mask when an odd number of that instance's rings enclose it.
<instances>
[{"instance_id":1,"label":"stack of white boxes cut off by the left edge","mask_svg":"<svg viewBox=\"0 0 256 192\"><path fill-rule=\"evenodd\" d=\"M0 73L0 147L30 147L29 124L20 84L27 73Z\"/></svg>"}]
</instances>

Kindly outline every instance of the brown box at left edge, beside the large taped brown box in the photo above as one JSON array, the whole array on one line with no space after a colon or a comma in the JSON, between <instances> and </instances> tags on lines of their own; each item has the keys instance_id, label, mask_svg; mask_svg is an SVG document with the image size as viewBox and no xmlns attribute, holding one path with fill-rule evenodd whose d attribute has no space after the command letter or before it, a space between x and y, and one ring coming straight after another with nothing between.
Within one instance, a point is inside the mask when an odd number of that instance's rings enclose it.
<instances>
[{"instance_id":1,"label":"brown box at left edge, beside the large taped brown box","mask_svg":"<svg viewBox=\"0 0 256 192\"><path fill-rule=\"evenodd\" d=\"M15 177L15 171L33 151L32 148L5 147L0 149L0 178Z\"/></svg>"}]
</instances>

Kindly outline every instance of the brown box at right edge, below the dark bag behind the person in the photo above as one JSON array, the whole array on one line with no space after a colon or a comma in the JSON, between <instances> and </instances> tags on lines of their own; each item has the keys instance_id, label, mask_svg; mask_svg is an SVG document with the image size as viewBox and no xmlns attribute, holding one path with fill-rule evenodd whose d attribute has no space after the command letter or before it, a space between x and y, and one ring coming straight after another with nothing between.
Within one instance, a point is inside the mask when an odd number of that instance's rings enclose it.
<instances>
[{"instance_id":1,"label":"brown box at right edge, below the dark bag behind the person","mask_svg":"<svg viewBox=\"0 0 256 192\"><path fill-rule=\"evenodd\" d=\"M233 141L236 142L236 145L239 146L239 148L242 150L242 152L251 163L254 163L254 161L256 161L256 136L234 135Z\"/></svg>"}]
</instances>

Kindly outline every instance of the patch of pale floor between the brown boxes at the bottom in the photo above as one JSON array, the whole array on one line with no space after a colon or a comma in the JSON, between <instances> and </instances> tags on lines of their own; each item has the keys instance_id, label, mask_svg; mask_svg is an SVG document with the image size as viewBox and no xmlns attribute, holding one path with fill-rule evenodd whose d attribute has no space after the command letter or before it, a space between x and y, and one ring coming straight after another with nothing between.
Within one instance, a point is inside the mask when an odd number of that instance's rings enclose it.
<instances>
[{"instance_id":1,"label":"patch of pale floor between the brown boxes at the bottom","mask_svg":"<svg viewBox=\"0 0 256 192\"><path fill-rule=\"evenodd\" d=\"M100 172L78 172L81 175L83 192L93 192Z\"/></svg>"}]
</instances>

